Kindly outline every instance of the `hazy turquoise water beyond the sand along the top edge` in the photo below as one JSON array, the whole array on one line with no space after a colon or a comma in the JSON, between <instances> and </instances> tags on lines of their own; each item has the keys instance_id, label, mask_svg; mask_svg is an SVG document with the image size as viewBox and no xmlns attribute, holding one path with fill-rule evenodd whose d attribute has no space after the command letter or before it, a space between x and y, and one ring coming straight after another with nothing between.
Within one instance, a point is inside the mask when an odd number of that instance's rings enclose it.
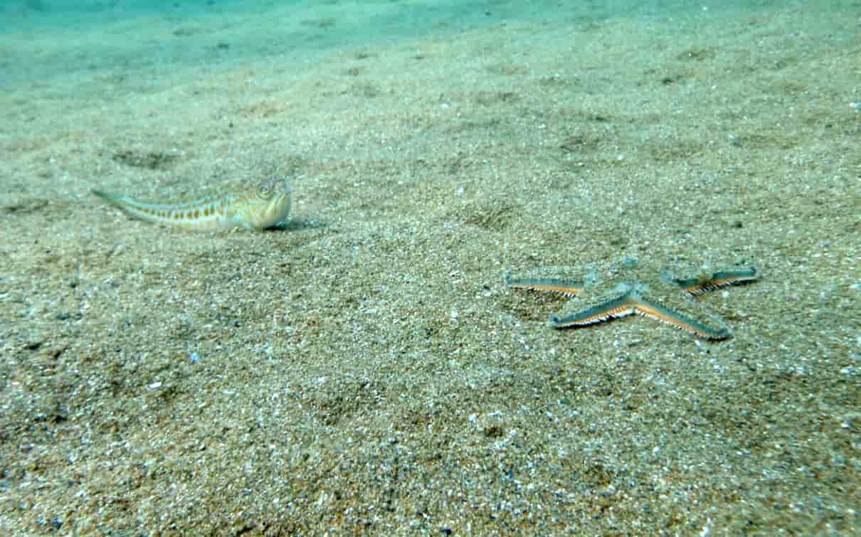
<instances>
[{"instance_id":1,"label":"hazy turquoise water beyond the sand along the top edge","mask_svg":"<svg viewBox=\"0 0 861 537\"><path fill-rule=\"evenodd\" d=\"M220 65L447 36L523 22L586 23L786 2L537 0L5 0L0 84L48 83L98 71ZM104 74L102 72L102 74Z\"/></svg>"}]
</instances>

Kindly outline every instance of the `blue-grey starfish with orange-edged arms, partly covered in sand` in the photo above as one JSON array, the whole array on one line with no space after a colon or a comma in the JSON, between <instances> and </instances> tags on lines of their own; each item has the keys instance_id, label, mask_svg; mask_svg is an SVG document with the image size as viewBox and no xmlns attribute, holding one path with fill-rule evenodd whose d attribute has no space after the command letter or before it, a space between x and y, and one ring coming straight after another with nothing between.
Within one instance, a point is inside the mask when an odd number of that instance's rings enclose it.
<instances>
[{"instance_id":1,"label":"blue-grey starfish with orange-edged arms, partly covered in sand","mask_svg":"<svg viewBox=\"0 0 861 537\"><path fill-rule=\"evenodd\" d=\"M636 264L634 260L629 259L623 263L623 267L631 268ZM714 273L703 272L693 278L678 278L670 271L664 270L661 272L660 281L620 281L593 306L565 317L554 315L550 318L550 325L559 329L584 327L636 313L671 324L680 330L687 330L700 339L710 341L728 339L730 332L725 326L711 327L691 314L681 311L694 309L696 298L703 293L754 281L757 277L757 270L754 267ZM509 275L505 275L505 285L508 287L547 291L566 297L585 293L587 287L592 287L595 280L595 275L587 278L587 282L535 278L512 279ZM671 287L672 292L659 294L660 287Z\"/></svg>"}]
</instances>

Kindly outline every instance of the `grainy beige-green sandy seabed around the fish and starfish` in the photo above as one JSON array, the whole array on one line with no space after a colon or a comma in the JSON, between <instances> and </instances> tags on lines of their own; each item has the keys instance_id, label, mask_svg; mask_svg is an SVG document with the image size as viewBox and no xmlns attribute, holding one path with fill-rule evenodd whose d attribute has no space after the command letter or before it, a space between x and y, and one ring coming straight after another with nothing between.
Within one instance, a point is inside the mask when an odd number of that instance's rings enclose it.
<instances>
[{"instance_id":1,"label":"grainy beige-green sandy seabed around the fish and starfish","mask_svg":"<svg viewBox=\"0 0 861 537\"><path fill-rule=\"evenodd\" d=\"M858 533L858 35L697 9L6 84L0 528ZM274 173L273 231L90 195ZM750 265L699 299L722 343L503 281Z\"/></svg>"}]
</instances>

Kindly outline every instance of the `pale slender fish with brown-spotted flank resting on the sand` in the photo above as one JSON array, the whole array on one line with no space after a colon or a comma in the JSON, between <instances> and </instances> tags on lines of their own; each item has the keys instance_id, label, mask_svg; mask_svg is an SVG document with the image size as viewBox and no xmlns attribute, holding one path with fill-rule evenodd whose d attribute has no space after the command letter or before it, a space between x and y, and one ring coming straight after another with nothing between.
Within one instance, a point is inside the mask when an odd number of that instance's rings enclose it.
<instances>
[{"instance_id":1,"label":"pale slender fish with brown-spotted flank resting on the sand","mask_svg":"<svg viewBox=\"0 0 861 537\"><path fill-rule=\"evenodd\" d=\"M134 218L192 230L274 227L287 219L293 197L286 177L243 183L195 201L173 204L145 203L102 190L92 192Z\"/></svg>"}]
</instances>

